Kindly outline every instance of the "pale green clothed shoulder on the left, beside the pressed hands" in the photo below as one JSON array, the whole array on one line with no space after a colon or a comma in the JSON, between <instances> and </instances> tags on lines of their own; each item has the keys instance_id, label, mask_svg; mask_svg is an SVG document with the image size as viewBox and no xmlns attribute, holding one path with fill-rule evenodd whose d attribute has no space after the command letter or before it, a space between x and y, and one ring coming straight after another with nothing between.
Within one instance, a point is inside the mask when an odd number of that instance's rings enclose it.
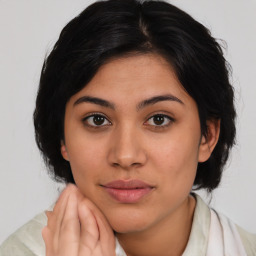
<instances>
[{"instance_id":1,"label":"pale green clothed shoulder on the left, beside the pressed hands","mask_svg":"<svg viewBox=\"0 0 256 256\"><path fill-rule=\"evenodd\" d=\"M41 232L46 224L47 217L44 212L36 215L3 242L0 246L0 256L44 256Z\"/></svg>"}]
</instances>

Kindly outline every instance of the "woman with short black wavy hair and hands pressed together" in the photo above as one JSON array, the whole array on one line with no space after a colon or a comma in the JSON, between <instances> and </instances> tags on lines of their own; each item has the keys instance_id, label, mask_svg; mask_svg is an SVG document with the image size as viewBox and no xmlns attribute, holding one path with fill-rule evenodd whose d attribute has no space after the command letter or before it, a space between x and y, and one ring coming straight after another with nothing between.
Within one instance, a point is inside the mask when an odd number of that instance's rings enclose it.
<instances>
[{"instance_id":1,"label":"woman with short black wavy hair and hands pressed together","mask_svg":"<svg viewBox=\"0 0 256 256\"><path fill-rule=\"evenodd\" d=\"M219 44L188 14L89 6L46 59L34 112L46 163L71 184L3 255L255 255L255 236L191 193L220 183L233 100Z\"/></svg>"}]
</instances>

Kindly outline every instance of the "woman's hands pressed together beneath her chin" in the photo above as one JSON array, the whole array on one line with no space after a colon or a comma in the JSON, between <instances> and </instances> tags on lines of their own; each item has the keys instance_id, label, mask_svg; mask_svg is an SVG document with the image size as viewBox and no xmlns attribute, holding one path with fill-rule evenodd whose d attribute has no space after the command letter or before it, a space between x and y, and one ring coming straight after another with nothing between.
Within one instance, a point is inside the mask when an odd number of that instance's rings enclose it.
<instances>
[{"instance_id":1,"label":"woman's hands pressed together beneath her chin","mask_svg":"<svg viewBox=\"0 0 256 256\"><path fill-rule=\"evenodd\" d=\"M75 185L46 212L42 231L46 256L115 256L115 237L101 211Z\"/></svg>"}]
</instances>

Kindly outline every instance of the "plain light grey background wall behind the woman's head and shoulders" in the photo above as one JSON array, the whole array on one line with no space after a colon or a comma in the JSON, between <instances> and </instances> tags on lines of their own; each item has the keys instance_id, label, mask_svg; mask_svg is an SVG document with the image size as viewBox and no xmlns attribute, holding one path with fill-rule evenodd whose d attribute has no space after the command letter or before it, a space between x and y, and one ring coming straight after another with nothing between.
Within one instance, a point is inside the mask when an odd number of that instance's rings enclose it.
<instances>
[{"instance_id":1,"label":"plain light grey background wall behind the woman's head and shoulders","mask_svg":"<svg viewBox=\"0 0 256 256\"><path fill-rule=\"evenodd\" d=\"M0 0L0 243L57 198L60 185L47 176L34 142L34 101L46 52L63 26L91 2ZM238 143L211 205L256 233L256 2L172 3L228 44Z\"/></svg>"}]
</instances>

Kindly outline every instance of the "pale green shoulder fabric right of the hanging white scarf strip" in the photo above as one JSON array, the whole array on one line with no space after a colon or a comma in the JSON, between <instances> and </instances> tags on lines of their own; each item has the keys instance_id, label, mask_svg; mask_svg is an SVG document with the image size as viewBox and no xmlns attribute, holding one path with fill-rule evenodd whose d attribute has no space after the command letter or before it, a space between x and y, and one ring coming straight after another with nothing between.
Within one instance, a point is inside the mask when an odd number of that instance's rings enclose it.
<instances>
[{"instance_id":1,"label":"pale green shoulder fabric right of the hanging white scarf strip","mask_svg":"<svg viewBox=\"0 0 256 256\"><path fill-rule=\"evenodd\" d=\"M251 234L243 228L236 225L237 231L241 237L248 256L256 255L256 234Z\"/></svg>"}]
</instances>

